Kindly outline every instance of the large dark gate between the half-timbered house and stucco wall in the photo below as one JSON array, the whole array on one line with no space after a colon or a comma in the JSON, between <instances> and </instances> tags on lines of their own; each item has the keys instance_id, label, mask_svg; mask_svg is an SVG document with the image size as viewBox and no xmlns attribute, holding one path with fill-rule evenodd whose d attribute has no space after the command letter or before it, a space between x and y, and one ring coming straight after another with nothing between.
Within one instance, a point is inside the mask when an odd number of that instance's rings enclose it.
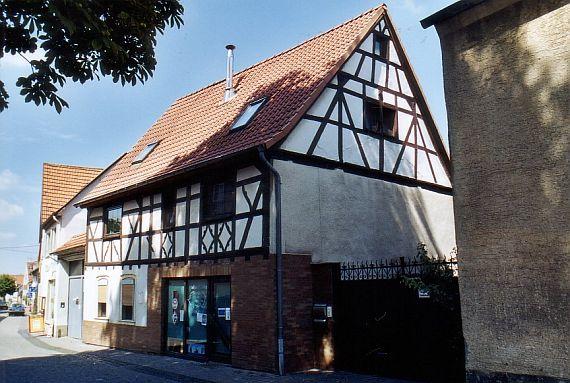
<instances>
[{"instance_id":1,"label":"large dark gate between the half-timbered house and stucco wall","mask_svg":"<svg viewBox=\"0 0 570 383\"><path fill-rule=\"evenodd\" d=\"M425 267L404 259L340 266L334 287L337 369L430 382L464 380L457 278L446 286L445 302L420 298L402 283L403 275L421 275Z\"/></svg>"}]
</instances>

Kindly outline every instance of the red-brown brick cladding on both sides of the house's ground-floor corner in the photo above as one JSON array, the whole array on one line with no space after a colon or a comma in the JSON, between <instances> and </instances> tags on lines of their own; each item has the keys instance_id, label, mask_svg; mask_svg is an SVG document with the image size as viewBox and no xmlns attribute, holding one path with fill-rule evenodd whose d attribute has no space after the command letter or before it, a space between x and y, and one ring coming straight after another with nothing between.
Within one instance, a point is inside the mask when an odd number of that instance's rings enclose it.
<instances>
[{"instance_id":1,"label":"red-brown brick cladding on both sides of the house's ground-floor corner","mask_svg":"<svg viewBox=\"0 0 570 383\"><path fill-rule=\"evenodd\" d=\"M232 354L235 367L277 370L275 257L237 257L226 263L153 266L148 275L147 326L84 321L83 340L144 352L163 352L162 294L168 278L230 276ZM286 370L311 368L313 362L310 256L284 256Z\"/></svg>"}]
</instances>

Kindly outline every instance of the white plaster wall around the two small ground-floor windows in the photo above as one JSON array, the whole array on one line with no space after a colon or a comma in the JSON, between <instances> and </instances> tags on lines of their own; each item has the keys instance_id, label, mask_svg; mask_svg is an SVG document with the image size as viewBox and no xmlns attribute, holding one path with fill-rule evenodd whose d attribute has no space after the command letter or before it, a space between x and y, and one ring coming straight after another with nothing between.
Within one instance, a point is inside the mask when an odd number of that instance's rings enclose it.
<instances>
[{"instance_id":1,"label":"white plaster wall around the two small ground-floor windows","mask_svg":"<svg viewBox=\"0 0 570 383\"><path fill-rule=\"evenodd\" d=\"M147 323L147 277L148 266L128 267L88 267L85 269L83 281L83 320L98 321L97 318L97 286L100 278L107 278L107 315L110 323L121 321L121 279L126 276L135 279L135 325L146 326ZM128 323L128 322L127 322Z\"/></svg>"}]
</instances>

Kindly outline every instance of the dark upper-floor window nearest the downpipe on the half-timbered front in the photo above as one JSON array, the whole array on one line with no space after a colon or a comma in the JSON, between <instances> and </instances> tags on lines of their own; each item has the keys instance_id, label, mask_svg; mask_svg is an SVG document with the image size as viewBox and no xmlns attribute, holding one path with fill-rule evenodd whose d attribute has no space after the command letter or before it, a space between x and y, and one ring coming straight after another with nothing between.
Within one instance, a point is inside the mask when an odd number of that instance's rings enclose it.
<instances>
[{"instance_id":1,"label":"dark upper-floor window nearest the downpipe on the half-timbered front","mask_svg":"<svg viewBox=\"0 0 570 383\"><path fill-rule=\"evenodd\" d=\"M223 219L234 212L235 186L230 180L211 180L204 187L204 220Z\"/></svg>"}]
</instances>

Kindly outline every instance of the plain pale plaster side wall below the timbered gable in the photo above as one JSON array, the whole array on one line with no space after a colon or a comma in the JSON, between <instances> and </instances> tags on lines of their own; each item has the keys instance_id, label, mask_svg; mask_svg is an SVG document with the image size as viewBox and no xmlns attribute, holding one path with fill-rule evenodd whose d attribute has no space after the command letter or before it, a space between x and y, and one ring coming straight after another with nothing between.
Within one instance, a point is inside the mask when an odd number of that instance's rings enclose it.
<instances>
[{"instance_id":1,"label":"plain pale plaster side wall below the timbered gable","mask_svg":"<svg viewBox=\"0 0 570 383\"><path fill-rule=\"evenodd\" d=\"M324 263L414 256L418 242L432 255L449 256L455 247L450 195L342 170L274 165L282 177L284 252Z\"/></svg>"}]
</instances>

